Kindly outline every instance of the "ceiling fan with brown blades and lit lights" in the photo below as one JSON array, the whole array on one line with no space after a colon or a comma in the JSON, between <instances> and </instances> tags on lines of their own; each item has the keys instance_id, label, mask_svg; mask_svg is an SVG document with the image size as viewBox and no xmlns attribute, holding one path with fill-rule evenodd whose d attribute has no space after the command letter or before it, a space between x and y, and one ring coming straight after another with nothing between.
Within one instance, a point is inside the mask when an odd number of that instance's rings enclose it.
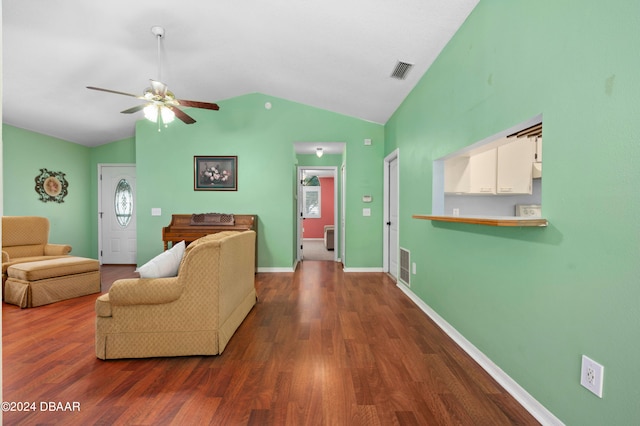
<instances>
[{"instance_id":1,"label":"ceiling fan with brown blades and lit lights","mask_svg":"<svg viewBox=\"0 0 640 426\"><path fill-rule=\"evenodd\" d=\"M158 131L160 131L161 123L164 123L165 127L167 123L173 121L175 117L178 117L186 124L193 124L196 120L193 117L185 113L180 107L192 107L202 108L209 110L219 110L220 107L217 104L201 101L188 101L185 99L176 99L173 92L169 90L166 84L160 82L160 39L164 37L164 28L152 27L151 33L156 36L158 40L158 80L151 79L151 87L147 87L142 96L133 95L131 93L120 92L117 90L103 89L100 87L87 86L87 89L99 90L101 92L115 93L117 95L131 96L136 99L145 101L142 105L137 105L129 109L121 111L123 114L133 114L138 111L144 111L145 117L158 123Z\"/></svg>"}]
</instances>

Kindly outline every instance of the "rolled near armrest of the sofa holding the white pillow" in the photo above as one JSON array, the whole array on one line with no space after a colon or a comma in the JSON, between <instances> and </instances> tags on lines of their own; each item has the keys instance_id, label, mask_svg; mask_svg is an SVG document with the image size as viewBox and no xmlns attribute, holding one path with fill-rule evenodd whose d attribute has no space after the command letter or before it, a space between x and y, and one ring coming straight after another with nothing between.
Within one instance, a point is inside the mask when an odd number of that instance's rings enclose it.
<instances>
[{"instance_id":1,"label":"rolled near armrest of the sofa holding the white pillow","mask_svg":"<svg viewBox=\"0 0 640 426\"><path fill-rule=\"evenodd\" d=\"M183 286L178 277L117 280L109 290L112 305L160 305L178 300Z\"/></svg>"}]
</instances>

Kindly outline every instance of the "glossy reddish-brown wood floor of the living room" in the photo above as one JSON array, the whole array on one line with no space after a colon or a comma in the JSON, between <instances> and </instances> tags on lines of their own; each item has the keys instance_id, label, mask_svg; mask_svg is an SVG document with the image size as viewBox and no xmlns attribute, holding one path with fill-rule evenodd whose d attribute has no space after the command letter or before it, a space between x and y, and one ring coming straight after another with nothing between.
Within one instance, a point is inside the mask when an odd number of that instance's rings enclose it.
<instances>
[{"instance_id":1,"label":"glossy reddish-brown wood floor of the living room","mask_svg":"<svg viewBox=\"0 0 640 426\"><path fill-rule=\"evenodd\" d=\"M103 268L103 291L132 271ZM386 275L306 261L256 277L258 304L212 357L101 361L97 295L3 303L3 398L36 403L4 424L537 424Z\"/></svg>"}]
</instances>

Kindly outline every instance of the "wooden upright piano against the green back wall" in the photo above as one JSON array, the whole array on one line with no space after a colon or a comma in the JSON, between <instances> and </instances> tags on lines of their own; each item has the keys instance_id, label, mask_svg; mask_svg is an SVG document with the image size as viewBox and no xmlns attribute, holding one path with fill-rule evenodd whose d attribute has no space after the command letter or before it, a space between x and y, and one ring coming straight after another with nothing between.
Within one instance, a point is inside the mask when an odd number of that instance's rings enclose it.
<instances>
[{"instance_id":1,"label":"wooden upright piano against the green back wall","mask_svg":"<svg viewBox=\"0 0 640 426\"><path fill-rule=\"evenodd\" d=\"M201 215L198 215L201 216ZM224 231L255 231L256 232L256 262L258 260L258 216L253 214L234 214L234 223L224 224L206 224L194 225L192 214L174 214L171 215L171 223L169 226L162 228L162 241L164 249L171 245L184 241L187 245L209 234L216 234Z\"/></svg>"}]
</instances>

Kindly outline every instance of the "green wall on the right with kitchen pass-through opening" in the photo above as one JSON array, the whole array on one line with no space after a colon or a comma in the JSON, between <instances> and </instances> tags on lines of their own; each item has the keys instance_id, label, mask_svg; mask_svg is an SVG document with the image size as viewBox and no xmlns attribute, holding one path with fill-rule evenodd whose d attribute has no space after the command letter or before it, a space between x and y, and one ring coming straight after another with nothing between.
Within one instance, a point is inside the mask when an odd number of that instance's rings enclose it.
<instances>
[{"instance_id":1,"label":"green wall on the right with kitchen pass-through opening","mask_svg":"<svg viewBox=\"0 0 640 426\"><path fill-rule=\"evenodd\" d=\"M639 17L637 1L481 0L385 126L411 290L567 424L640 419ZM411 219L431 212L433 160L540 113L548 228Z\"/></svg>"}]
</instances>

